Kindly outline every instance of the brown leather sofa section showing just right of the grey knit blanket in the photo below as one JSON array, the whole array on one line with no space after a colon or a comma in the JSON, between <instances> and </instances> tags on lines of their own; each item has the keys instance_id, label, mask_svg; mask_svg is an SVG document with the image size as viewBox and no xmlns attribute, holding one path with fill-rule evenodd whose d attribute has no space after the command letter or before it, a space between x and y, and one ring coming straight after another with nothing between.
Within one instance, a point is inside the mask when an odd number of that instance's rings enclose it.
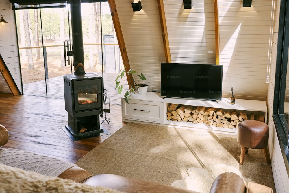
<instances>
[{"instance_id":1,"label":"brown leather sofa section showing just right of the grey knit blanket","mask_svg":"<svg viewBox=\"0 0 289 193\"><path fill-rule=\"evenodd\" d=\"M88 171L78 167L73 166L71 168L68 168L64 172L58 175L59 178L62 179L70 179L74 180L75 182L82 182L85 181L87 178L91 177L92 174L90 174Z\"/></svg>"}]
</instances>

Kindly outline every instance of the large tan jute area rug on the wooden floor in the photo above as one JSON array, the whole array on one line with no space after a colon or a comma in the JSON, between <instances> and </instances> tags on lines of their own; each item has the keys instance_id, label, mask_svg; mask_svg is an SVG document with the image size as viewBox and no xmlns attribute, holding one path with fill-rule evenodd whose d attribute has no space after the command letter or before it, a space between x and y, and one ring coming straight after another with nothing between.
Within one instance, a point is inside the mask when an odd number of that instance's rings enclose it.
<instances>
[{"instance_id":1,"label":"large tan jute area rug on the wooden floor","mask_svg":"<svg viewBox=\"0 0 289 193\"><path fill-rule=\"evenodd\" d=\"M127 123L76 162L88 172L117 174L170 185L186 179L192 167L226 164L243 177L273 188L271 164L263 150L249 149L239 165L236 135ZM234 172L232 171L232 172ZM192 176L190 176L192 177Z\"/></svg>"}]
</instances>

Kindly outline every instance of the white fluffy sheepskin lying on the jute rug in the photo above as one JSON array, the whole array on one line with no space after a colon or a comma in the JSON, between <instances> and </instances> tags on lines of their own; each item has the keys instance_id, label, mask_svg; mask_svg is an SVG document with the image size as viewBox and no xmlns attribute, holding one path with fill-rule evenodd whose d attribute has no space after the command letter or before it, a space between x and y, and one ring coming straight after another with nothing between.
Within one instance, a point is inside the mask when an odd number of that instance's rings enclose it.
<instances>
[{"instance_id":1,"label":"white fluffy sheepskin lying on the jute rug","mask_svg":"<svg viewBox=\"0 0 289 193\"><path fill-rule=\"evenodd\" d=\"M188 177L181 180L176 180L171 185L186 188L189 190L194 190L196 192L208 193L216 177L225 172L233 172L238 174L242 179L248 182L254 182L249 178L243 177L240 170L227 166L225 164L217 164L207 168L188 168Z\"/></svg>"}]
</instances>

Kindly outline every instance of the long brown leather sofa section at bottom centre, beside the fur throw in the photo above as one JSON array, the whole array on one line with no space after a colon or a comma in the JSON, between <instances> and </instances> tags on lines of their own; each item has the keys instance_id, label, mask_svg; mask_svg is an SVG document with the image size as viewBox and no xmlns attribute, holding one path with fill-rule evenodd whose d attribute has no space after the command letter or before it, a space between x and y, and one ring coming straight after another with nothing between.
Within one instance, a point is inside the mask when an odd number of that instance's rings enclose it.
<instances>
[{"instance_id":1,"label":"long brown leather sofa section at bottom centre, beside the fur throw","mask_svg":"<svg viewBox=\"0 0 289 193\"><path fill-rule=\"evenodd\" d=\"M176 186L134 179L114 174L99 174L88 178L83 183L92 186L102 186L112 188L127 193L132 192L197 193L192 190L187 190Z\"/></svg>"}]
</instances>

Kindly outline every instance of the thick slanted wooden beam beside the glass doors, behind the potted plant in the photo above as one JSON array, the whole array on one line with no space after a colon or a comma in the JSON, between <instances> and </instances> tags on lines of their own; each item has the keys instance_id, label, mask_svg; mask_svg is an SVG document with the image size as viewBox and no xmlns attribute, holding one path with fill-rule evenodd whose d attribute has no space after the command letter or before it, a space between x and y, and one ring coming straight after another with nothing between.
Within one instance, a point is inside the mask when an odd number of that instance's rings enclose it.
<instances>
[{"instance_id":1,"label":"thick slanted wooden beam beside the glass doors, behind the potted plant","mask_svg":"<svg viewBox=\"0 0 289 193\"><path fill-rule=\"evenodd\" d=\"M129 65L129 60L128 60L128 56L127 56L127 51L125 48L125 41L123 39L123 32L121 31L121 24L119 23L119 18L118 18L118 14L116 11L116 5L115 5L115 1L114 0L108 0L108 5L110 7L110 13L111 13L111 17L112 17L112 22L114 25L114 30L116 33L116 37L117 37L117 41L118 41L118 45L119 45L119 49L121 52L121 57L123 59L123 65L125 67L125 69L127 71L130 70L130 65ZM126 73L127 76L127 82L129 85L134 86L134 81L132 78L132 75L128 75Z\"/></svg>"}]
</instances>

